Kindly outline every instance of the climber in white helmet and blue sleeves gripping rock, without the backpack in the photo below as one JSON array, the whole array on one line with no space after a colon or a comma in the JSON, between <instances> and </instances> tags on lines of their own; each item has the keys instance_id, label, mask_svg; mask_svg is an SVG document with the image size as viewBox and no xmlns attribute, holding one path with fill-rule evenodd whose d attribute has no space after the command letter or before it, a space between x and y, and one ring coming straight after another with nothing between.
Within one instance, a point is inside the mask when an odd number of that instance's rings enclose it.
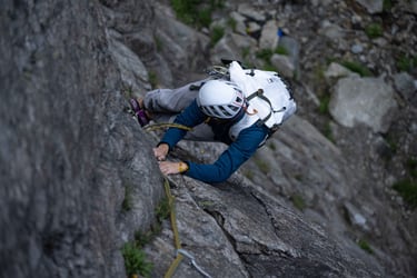
<instances>
[{"instance_id":1,"label":"climber in white helmet and blue sleeves gripping rock, without the backpack","mask_svg":"<svg viewBox=\"0 0 417 278\"><path fill-rule=\"evenodd\" d=\"M289 93L288 93L289 96ZM271 135L271 129L249 112L242 87L227 79L206 79L177 89L156 89L143 99L130 99L141 126L149 120L192 128L169 128L153 148L163 175L183 173L205 182L221 182L247 161ZM254 112L255 111L255 112ZM294 111L292 111L294 112ZM166 161L181 140L220 141L228 148L214 163Z\"/></svg>"}]
</instances>

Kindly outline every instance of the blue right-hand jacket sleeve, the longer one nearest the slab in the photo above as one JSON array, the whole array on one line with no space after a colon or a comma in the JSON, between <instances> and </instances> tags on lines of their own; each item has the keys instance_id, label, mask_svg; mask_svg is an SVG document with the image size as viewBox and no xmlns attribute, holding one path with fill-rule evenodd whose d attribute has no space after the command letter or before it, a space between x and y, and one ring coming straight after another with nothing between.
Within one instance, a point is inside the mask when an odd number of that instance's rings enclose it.
<instances>
[{"instance_id":1,"label":"blue right-hand jacket sleeve, the longer one nearest the slab","mask_svg":"<svg viewBox=\"0 0 417 278\"><path fill-rule=\"evenodd\" d=\"M185 175L208 183L225 181L256 152L267 135L266 127L254 125L244 129L215 163L201 165L187 161L189 169Z\"/></svg>"}]
</instances>

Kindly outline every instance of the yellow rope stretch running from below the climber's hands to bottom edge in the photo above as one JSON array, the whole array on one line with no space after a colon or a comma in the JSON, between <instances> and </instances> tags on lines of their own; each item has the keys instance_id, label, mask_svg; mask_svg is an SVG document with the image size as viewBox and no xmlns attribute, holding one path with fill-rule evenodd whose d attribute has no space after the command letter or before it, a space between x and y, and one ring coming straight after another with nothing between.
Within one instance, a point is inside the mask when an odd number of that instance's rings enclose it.
<instances>
[{"instance_id":1,"label":"yellow rope stretch running from below the climber's hands to bottom edge","mask_svg":"<svg viewBox=\"0 0 417 278\"><path fill-rule=\"evenodd\" d=\"M171 190L169 188L169 180L167 177L163 178L163 187L165 187L165 192L168 198L168 205L171 210L171 226L172 226L172 232L173 232L173 242L176 250L181 248L181 241L179 240L179 234L178 234L178 227L177 227L177 219L176 219L176 211L175 211L175 197L171 195ZM181 254L177 254L176 259L171 262L168 271L163 276L165 278L170 278L172 277L173 272L176 271L177 267L183 259L183 256Z\"/></svg>"}]
</instances>

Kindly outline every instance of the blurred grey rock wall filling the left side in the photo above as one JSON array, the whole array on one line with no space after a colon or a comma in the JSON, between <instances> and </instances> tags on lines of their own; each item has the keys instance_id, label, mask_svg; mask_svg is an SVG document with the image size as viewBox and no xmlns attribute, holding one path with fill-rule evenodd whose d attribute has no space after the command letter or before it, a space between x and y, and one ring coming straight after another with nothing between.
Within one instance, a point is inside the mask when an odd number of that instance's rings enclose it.
<instances>
[{"instance_id":1,"label":"blurred grey rock wall filling the left side","mask_svg":"<svg viewBox=\"0 0 417 278\"><path fill-rule=\"evenodd\" d=\"M6 1L0 20L0 277L123 277L121 240L162 189L121 112L101 7ZM142 197L126 215L129 185Z\"/></svg>"}]
</instances>

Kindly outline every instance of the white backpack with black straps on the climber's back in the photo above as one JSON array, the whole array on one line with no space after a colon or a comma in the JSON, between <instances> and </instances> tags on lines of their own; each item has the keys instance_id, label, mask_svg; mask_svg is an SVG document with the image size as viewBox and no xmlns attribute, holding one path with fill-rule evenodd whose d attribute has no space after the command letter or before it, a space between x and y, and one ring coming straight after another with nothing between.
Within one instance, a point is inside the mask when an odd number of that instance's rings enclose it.
<instances>
[{"instance_id":1,"label":"white backpack with black straps on the climber's back","mask_svg":"<svg viewBox=\"0 0 417 278\"><path fill-rule=\"evenodd\" d=\"M229 130L232 140L255 122L268 127L270 136L296 112L297 105L292 95L277 72L242 69L237 61L232 61L228 73L230 81L242 89L249 103L245 117Z\"/></svg>"}]
</instances>

